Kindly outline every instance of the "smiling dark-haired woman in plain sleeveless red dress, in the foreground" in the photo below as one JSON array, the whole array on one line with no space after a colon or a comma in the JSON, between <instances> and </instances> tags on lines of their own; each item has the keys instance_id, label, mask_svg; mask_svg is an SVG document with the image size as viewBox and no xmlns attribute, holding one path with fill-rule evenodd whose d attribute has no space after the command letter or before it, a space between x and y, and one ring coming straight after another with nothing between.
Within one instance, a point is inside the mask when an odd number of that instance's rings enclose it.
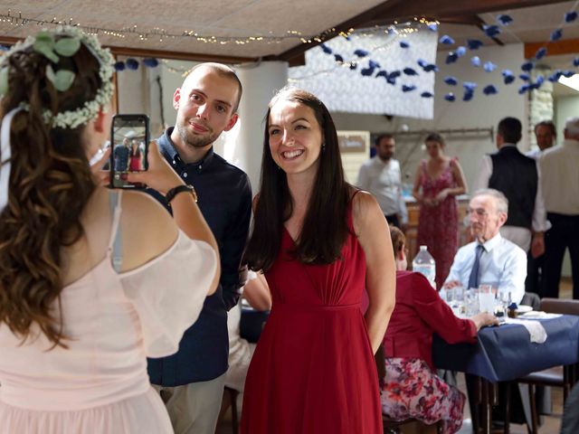
<instances>
[{"instance_id":1,"label":"smiling dark-haired woman in plain sleeveless red dress, in the foreground","mask_svg":"<svg viewBox=\"0 0 579 434\"><path fill-rule=\"evenodd\" d=\"M266 119L245 260L265 271L272 307L247 375L242 433L381 434L373 354L394 308L384 214L346 183L319 99L281 90Z\"/></svg>"}]
</instances>

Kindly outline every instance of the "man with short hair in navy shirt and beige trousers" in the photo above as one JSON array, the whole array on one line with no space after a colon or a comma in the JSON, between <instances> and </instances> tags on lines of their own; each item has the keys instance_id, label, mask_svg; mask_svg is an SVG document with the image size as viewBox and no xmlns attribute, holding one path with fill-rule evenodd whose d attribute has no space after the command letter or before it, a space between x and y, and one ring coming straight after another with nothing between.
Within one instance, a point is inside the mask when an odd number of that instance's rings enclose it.
<instances>
[{"instance_id":1,"label":"man with short hair in navy shirt and beige trousers","mask_svg":"<svg viewBox=\"0 0 579 434\"><path fill-rule=\"evenodd\" d=\"M213 144L237 122L241 97L242 84L231 68L196 65L173 96L176 126L158 139L167 162L195 187L197 204L219 245L222 268L219 287L205 299L179 351L148 360L150 380L166 403L176 434L213 434L221 407L229 351L227 310L237 303L241 286L252 189L248 176L216 155ZM166 204L159 193L151 193Z\"/></svg>"}]
</instances>

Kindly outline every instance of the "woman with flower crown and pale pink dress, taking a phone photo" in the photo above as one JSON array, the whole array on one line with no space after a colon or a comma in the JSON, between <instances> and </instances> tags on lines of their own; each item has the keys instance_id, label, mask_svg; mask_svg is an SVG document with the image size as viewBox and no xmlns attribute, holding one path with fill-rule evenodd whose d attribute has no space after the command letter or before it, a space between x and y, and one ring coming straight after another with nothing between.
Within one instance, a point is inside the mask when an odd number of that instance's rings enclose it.
<instances>
[{"instance_id":1,"label":"woman with flower crown and pale pink dress, taking a phone photo","mask_svg":"<svg viewBox=\"0 0 579 434\"><path fill-rule=\"evenodd\" d=\"M0 59L2 432L173 432L146 356L176 352L214 292L218 250L155 143L128 181L172 197L173 217L102 186L112 73L110 53L72 28Z\"/></svg>"}]
</instances>

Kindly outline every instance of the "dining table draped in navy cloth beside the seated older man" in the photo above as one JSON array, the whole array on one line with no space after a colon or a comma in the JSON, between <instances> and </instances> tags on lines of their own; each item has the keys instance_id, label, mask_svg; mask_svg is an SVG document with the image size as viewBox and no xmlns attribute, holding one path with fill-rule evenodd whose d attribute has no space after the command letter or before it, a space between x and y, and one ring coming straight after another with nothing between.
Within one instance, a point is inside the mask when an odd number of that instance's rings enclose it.
<instances>
[{"instance_id":1,"label":"dining table draped in navy cloth beside the seated older man","mask_svg":"<svg viewBox=\"0 0 579 434\"><path fill-rule=\"evenodd\" d=\"M438 335L433 337L432 361L438 369L467 373L476 379L475 403L480 420L473 423L484 433L490 433L499 382L579 363L579 316L548 316L533 321L545 329L545 342L532 342L527 327L517 321L481 328L476 344L448 344Z\"/></svg>"}]
</instances>

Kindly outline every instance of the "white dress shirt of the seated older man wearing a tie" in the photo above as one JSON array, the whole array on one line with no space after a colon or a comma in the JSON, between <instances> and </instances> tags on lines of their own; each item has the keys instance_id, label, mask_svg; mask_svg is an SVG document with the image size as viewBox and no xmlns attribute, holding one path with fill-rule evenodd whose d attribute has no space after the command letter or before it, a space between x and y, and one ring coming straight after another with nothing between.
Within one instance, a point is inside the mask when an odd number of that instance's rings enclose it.
<instances>
[{"instance_id":1,"label":"white dress shirt of the seated older man wearing a tie","mask_svg":"<svg viewBox=\"0 0 579 434\"><path fill-rule=\"evenodd\" d=\"M470 270L474 264L478 241L470 242L457 251L446 281L458 280L464 288L469 287ZM483 245L479 261L479 285L492 285L501 291L510 291L515 303L525 295L527 278L527 253L500 233Z\"/></svg>"}]
</instances>

